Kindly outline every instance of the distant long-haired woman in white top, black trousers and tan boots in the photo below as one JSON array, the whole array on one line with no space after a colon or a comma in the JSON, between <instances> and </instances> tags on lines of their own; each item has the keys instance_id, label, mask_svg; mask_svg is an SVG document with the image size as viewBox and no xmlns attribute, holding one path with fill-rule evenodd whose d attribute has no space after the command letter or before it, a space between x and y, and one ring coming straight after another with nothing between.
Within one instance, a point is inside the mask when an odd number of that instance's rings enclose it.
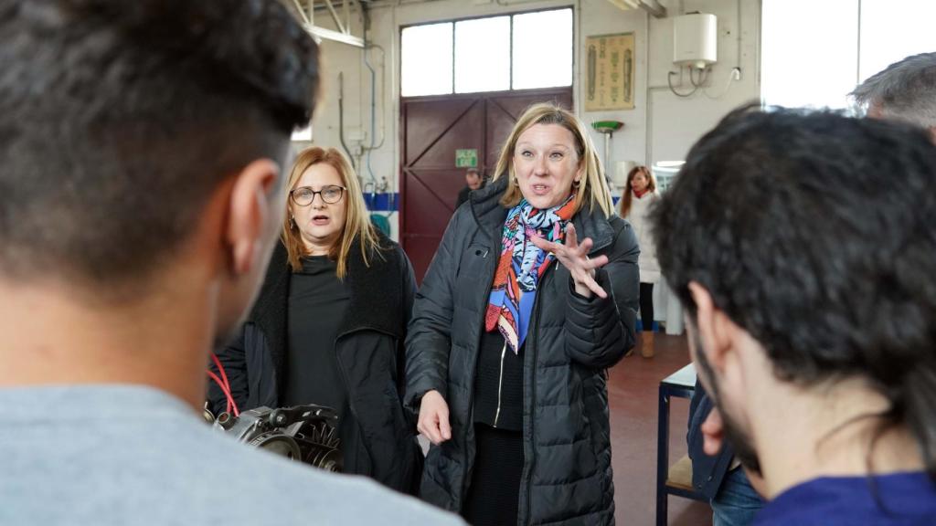
<instances>
[{"instance_id":1,"label":"distant long-haired woman in white top, black trousers and tan boots","mask_svg":"<svg viewBox=\"0 0 936 526\"><path fill-rule=\"evenodd\" d=\"M632 168L627 174L627 191L621 197L621 217L630 221L640 244L640 356L653 358L653 284L660 281L660 264L656 261L656 245L650 232L647 214L660 200L656 180L647 167Z\"/></svg>"}]
</instances>

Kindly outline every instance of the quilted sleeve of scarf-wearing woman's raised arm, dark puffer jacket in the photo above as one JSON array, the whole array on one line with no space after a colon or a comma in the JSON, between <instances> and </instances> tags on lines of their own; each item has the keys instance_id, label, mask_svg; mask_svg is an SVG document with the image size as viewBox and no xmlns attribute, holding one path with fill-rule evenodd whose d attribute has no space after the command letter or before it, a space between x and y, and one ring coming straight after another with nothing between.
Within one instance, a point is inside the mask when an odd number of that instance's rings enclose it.
<instances>
[{"instance_id":1,"label":"quilted sleeve of scarf-wearing woman's raised arm, dark puffer jacket","mask_svg":"<svg viewBox=\"0 0 936 526\"><path fill-rule=\"evenodd\" d=\"M635 344L640 250L631 226L623 221L615 223L607 265L595 272L595 281L605 289L607 298L579 296L569 280L565 352L593 369L611 367Z\"/></svg>"}]
</instances>

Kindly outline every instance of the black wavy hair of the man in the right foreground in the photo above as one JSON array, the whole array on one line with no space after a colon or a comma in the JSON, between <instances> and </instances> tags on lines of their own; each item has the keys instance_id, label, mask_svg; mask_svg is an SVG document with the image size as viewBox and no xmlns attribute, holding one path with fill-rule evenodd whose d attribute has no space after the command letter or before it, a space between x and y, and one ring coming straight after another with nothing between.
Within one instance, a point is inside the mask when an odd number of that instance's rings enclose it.
<instances>
[{"instance_id":1,"label":"black wavy hair of the man in the right foreground","mask_svg":"<svg viewBox=\"0 0 936 526\"><path fill-rule=\"evenodd\" d=\"M667 282L760 342L785 381L867 378L936 480L936 147L905 124L745 108L652 212Z\"/></svg>"}]
</instances>

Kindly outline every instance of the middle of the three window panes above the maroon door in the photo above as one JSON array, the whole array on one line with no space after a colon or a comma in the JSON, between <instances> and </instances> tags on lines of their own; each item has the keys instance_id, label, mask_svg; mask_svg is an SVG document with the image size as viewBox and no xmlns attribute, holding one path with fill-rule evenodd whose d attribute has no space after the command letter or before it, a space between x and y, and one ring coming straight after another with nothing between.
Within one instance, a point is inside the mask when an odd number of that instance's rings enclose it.
<instances>
[{"instance_id":1,"label":"middle of the three window panes above the maroon door","mask_svg":"<svg viewBox=\"0 0 936 526\"><path fill-rule=\"evenodd\" d=\"M455 93L510 89L510 17L455 23Z\"/></svg>"}]
</instances>

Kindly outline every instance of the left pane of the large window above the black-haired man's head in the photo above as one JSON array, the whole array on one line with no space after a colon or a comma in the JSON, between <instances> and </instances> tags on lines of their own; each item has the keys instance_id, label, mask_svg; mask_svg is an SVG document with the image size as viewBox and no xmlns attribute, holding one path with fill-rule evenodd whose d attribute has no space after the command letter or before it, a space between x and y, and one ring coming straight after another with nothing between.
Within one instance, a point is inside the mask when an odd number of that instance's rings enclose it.
<instances>
[{"instance_id":1,"label":"left pane of the large window above the black-haired man's head","mask_svg":"<svg viewBox=\"0 0 936 526\"><path fill-rule=\"evenodd\" d=\"M857 78L857 0L764 0L769 105L845 108Z\"/></svg>"}]
</instances>

